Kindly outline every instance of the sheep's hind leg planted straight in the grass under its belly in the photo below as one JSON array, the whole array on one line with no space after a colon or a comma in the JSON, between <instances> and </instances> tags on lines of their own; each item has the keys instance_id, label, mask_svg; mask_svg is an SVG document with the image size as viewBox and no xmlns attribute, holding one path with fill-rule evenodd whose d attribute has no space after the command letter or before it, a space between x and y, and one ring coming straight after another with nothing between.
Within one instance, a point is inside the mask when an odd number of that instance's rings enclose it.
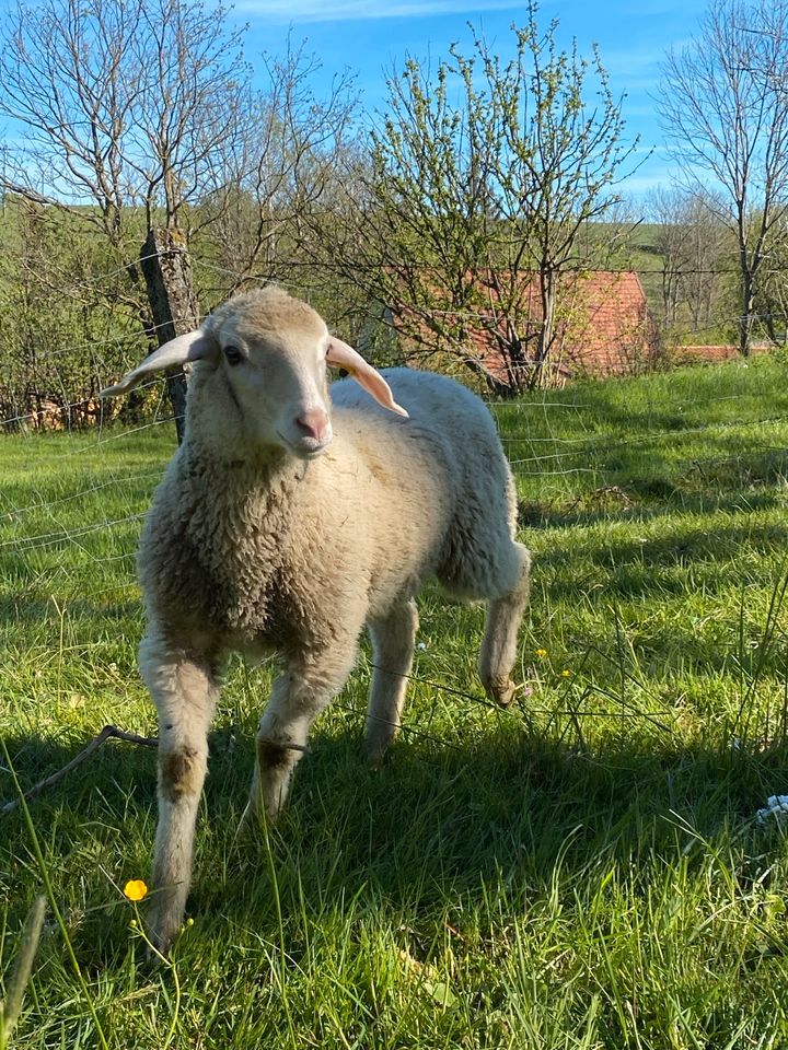
<instances>
[{"instance_id":1,"label":"sheep's hind leg planted straight in the grass under its belly","mask_svg":"<svg viewBox=\"0 0 788 1050\"><path fill-rule=\"evenodd\" d=\"M418 630L416 603L404 602L370 623L374 670L367 710L364 752L380 762L399 730Z\"/></svg>"}]
</instances>

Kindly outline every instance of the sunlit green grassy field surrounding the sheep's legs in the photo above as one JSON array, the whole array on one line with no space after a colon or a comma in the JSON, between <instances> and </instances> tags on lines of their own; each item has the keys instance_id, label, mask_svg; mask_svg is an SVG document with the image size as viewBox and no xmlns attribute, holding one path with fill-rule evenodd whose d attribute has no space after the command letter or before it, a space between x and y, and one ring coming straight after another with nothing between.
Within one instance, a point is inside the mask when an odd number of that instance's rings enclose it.
<instances>
[{"instance_id":1,"label":"sunlit green grassy field surrounding the sheep's legs","mask_svg":"<svg viewBox=\"0 0 788 1050\"><path fill-rule=\"evenodd\" d=\"M233 663L170 966L121 892L148 875L154 754L105 744L31 803L35 838L0 816L4 982L42 865L74 953L50 911L14 1048L788 1046L788 826L756 819L788 793L785 365L496 410L535 553L518 705L482 700L483 610L428 592L390 760L360 757L364 651L254 842L235 827L271 668ZM134 550L172 447L170 425L0 440L23 786L107 722L155 733Z\"/></svg>"}]
</instances>

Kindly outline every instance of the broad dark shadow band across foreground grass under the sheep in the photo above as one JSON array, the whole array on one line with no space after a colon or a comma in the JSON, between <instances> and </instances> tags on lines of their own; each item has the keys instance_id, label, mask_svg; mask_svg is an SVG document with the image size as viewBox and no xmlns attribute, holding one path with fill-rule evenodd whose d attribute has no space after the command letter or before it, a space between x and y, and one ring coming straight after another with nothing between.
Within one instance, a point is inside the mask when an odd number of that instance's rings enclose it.
<instances>
[{"instance_id":1,"label":"broad dark shadow band across foreground grass under the sheep","mask_svg":"<svg viewBox=\"0 0 788 1050\"><path fill-rule=\"evenodd\" d=\"M7 743L24 785L82 746L35 736ZM352 900L362 917L415 914L440 926L454 908L490 895L528 907L558 877L571 891L599 876L600 865L623 866L637 885L656 859L670 865L731 828L749 835L755 810L785 790L788 766L785 743L748 752L630 738L594 751L501 719L460 746L406 734L375 770L355 731L318 731L270 833L269 856L263 838L234 835L252 755L251 728L237 740L227 728L211 736L189 903L197 936L227 937L237 928L276 943L271 859L293 921L304 909L320 915ZM9 795L10 778L0 782ZM129 909L106 871L148 871L154 796L154 755L112 742L31 803L66 909L74 907L68 898L84 895L74 942L91 969L117 964L126 950ZM20 814L0 818L0 829L3 880L21 917L35 880L28 832Z\"/></svg>"}]
</instances>

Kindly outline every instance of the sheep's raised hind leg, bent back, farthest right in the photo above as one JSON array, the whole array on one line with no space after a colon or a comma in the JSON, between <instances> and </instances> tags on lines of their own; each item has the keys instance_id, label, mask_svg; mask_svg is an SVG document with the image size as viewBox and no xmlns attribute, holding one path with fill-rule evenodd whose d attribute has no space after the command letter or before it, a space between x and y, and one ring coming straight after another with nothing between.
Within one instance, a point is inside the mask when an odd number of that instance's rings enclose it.
<instances>
[{"instance_id":1,"label":"sheep's raised hind leg, bent back, farthest right","mask_svg":"<svg viewBox=\"0 0 788 1050\"><path fill-rule=\"evenodd\" d=\"M513 548L518 565L515 582L506 594L489 602L479 656L479 675L487 696L503 708L514 699L515 687L510 675L531 590L531 555L522 544L514 544Z\"/></svg>"}]
</instances>

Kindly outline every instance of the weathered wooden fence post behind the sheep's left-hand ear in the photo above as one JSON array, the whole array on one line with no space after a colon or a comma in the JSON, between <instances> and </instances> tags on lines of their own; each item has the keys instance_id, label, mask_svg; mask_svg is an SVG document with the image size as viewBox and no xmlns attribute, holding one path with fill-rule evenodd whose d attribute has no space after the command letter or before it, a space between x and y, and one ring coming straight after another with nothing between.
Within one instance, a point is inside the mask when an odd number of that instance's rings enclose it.
<instances>
[{"instance_id":1,"label":"weathered wooden fence post behind the sheep's left-hand ear","mask_svg":"<svg viewBox=\"0 0 788 1050\"><path fill-rule=\"evenodd\" d=\"M199 327L199 305L192 279L192 260L179 230L151 230L142 245L140 265L159 346ZM178 444L186 415L186 377L167 376L167 394L175 417Z\"/></svg>"}]
</instances>

